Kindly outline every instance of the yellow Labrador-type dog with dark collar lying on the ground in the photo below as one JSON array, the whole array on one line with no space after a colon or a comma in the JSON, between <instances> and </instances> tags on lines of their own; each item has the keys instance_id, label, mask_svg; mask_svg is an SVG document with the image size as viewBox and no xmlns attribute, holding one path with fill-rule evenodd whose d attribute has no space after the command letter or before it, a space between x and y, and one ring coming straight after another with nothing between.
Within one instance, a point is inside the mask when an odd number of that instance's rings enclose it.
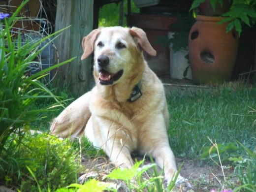
<instances>
[{"instance_id":1,"label":"yellow Labrador-type dog with dark collar lying on the ground","mask_svg":"<svg viewBox=\"0 0 256 192\"><path fill-rule=\"evenodd\" d=\"M164 168L169 183L177 173L167 129L169 112L164 88L143 52L156 56L139 28L99 28L83 38L82 60L94 53L96 86L54 119L60 137L85 135L115 165L130 168L130 153L150 155ZM183 180L178 175L176 182Z\"/></svg>"}]
</instances>

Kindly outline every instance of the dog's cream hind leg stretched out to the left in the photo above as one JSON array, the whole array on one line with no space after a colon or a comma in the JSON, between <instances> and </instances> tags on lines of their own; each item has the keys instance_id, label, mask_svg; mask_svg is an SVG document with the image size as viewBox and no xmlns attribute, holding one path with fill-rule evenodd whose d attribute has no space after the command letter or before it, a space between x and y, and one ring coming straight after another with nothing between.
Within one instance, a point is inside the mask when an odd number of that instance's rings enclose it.
<instances>
[{"instance_id":1,"label":"dog's cream hind leg stretched out to the left","mask_svg":"<svg viewBox=\"0 0 256 192\"><path fill-rule=\"evenodd\" d=\"M85 126L91 117L89 110L90 95L91 92L88 92L68 105L64 111L53 120L50 128L51 134L63 138L68 136L82 136L85 131Z\"/></svg>"}]
</instances>

